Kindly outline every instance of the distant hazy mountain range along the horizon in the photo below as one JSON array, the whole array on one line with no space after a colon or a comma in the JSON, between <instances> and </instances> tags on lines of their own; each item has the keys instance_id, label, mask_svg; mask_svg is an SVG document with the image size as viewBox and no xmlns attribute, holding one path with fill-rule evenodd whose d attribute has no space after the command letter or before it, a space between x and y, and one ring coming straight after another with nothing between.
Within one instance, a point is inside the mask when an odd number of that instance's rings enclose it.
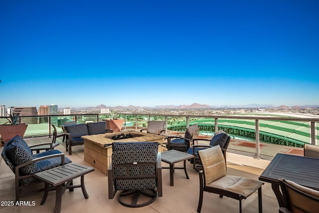
<instances>
[{"instance_id":1,"label":"distant hazy mountain range along the horizon","mask_svg":"<svg viewBox=\"0 0 319 213\"><path fill-rule=\"evenodd\" d=\"M221 106L209 106L207 104L199 104L199 103L193 103L191 105L160 105L155 107L141 107L141 106L105 106L104 104L100 104L96 107L81 107L81 108L71 108L71 110L80 110L80 111L86 111L86 110L101 110L101 109L207 109L207 108L302 108L302 107L319 107L317 105L304 105L304 106L274 106L274 105L267 105L267 104L248 104L248 105L221 105ZM62 108L63 109L63 108Z\"/></svg>"}]
</instances>

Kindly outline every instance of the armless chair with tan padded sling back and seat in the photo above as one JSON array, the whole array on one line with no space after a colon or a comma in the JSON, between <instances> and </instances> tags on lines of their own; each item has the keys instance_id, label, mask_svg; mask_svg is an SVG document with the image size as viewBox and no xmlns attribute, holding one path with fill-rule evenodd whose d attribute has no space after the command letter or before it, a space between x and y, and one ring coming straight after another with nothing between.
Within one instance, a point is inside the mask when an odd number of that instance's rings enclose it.
<instances>
[{"instance_id":1,"label":"armless chair with tan padded sling back and seat","mask_svg":"<svg viewBox=\"0 0 319 213\"><path fill-rule=\"evenodd\" d=\"M241 201L258 190L259 213L262 213L261 181L249 178L226 175L226 164L219 146L199 150L198 155L203 170L199 172L199 201L197 212L200 213L203 193L219 194L239 200L239 212L242 211Z\"/></svg>"}]
</instances>

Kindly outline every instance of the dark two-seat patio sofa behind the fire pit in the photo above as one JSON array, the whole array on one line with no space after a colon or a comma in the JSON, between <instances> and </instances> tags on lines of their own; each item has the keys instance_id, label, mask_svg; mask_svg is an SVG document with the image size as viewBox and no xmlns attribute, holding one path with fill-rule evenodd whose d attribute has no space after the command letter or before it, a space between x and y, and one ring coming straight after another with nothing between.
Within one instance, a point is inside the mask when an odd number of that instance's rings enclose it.
<instances>
[{"instance_id":1,"label":"dark two-seat patio sofa behind the fire pit","mask_svg":"<svg viewBox=\"0 0 319 213\"><path fill-rule=\"evenodd\" d=\"M85 135L97 135L107 132L113 132L112 129L106 129L105 121L87 124L67 125L64 127L68 133L66 138L66 151L72 155L72 146L83 145L84 140L81 138Z\"/></svg>"}]
</instances>

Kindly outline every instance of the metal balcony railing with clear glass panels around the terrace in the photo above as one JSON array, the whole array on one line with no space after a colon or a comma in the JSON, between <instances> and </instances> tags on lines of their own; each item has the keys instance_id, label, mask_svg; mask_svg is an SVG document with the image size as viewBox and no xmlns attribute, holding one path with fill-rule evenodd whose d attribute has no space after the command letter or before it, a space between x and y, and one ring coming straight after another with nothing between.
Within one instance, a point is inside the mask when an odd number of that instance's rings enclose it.
<instances>
[{"instance_id":1,"label":"metal balcony railing with clear glass panels around the terrace","mask_svg":"<svg viewBox=\"0 0 319 213\"><path fill-rule=\"evenodd\" d=\"M106 119L107 114L72 114L72 115L49 115L49 116L25 116L22 118L31 121L24 137L46 136L51 137L51 124L59 127L65 121L76 123L99 122ZM30 119L32 118L32 119ZM319 140L319 118L291 118L291 117L260 117L260 116L207 116L207 115L167 115L167 114L131 114L121 113L124 118L124 130L147 127L149 120L164 120L165 133L168 130L184 132L186 127L198 124L200 134L213 135L219 129L230 134L233 139L239 138L255 143L254 155L257 159L261 155L261 142L282 144L285 146L303 147L304 143L317 145ZM0 117L0 124L6 121ZM271 122L278 122L272 124ZM234 125L236 123L236 125ZM281 126L284 124L285 126ZM273 132L267 132L269 127L275 126ZM276 126L277 125L277 126ZM297 125L297 126L296 126ZM295 129L294 129L295 128ZM59 129L59 131L62 131ZM280 132L280 133L279 133ZM287 135L282 134L287 132Z\"/></svg>"}]
</instances>

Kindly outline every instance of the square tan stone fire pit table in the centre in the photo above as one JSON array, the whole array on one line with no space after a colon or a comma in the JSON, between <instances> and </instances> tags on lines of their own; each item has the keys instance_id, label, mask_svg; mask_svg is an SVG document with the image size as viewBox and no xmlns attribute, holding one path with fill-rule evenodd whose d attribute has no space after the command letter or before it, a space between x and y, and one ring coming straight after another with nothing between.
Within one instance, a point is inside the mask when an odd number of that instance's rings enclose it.
<instances>
[{"instance_id":1,"label":"square tan stone fire pit table in the centre","mask_svg":"<svg viewBox=\"0 0 319 213\"><path fill-rule=\"evenodd\" d=\"M127 137L127 138L126 138ZM84 161L95 169L107 175L112 160L112 143L116 142L146 142L154 141L164 143L166 137L145 132L121 131L99 135L82 136L84 139ZM159 152L162 152L159 146Z\"/></svg>"}]
</instances>

